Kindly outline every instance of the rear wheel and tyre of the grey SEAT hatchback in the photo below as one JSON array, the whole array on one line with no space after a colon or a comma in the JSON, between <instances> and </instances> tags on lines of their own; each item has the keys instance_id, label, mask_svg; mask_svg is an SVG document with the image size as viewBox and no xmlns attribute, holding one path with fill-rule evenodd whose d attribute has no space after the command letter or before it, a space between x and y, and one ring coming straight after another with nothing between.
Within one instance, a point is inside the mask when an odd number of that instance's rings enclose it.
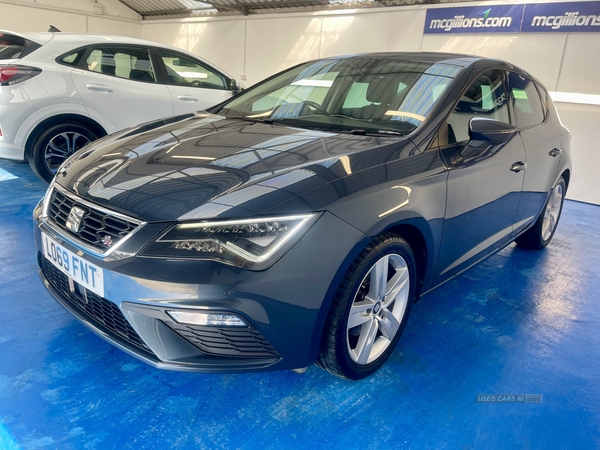
<instances>
[{"instance_id":1,"label":"rear wheel and tyre of the grey SEAT hatchback","mask_svg":"<svg viewBox=\"0 0 600 450\"><path fill-rule=\"evenodd\" d=\"M519 247L541 250L550 243L560 220L566 191L565 180L561 177L550 191L550 196L535 224L515 239Z\"/></svg>"}]
</instances>

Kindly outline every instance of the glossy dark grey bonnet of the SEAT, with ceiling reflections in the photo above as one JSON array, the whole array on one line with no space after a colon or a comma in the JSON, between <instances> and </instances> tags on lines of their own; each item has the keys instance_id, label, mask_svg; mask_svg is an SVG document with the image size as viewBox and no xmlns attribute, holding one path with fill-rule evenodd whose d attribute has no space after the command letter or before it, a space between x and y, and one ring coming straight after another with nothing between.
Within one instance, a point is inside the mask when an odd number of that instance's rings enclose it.
<instances>
[{"instance_id":1,"label":"glossy dark grey bonnet of the SEAT, with ceiling reflections","mask_svg":"<svg viewBox=\"0 0 600 450\"><path fill-rule=\"evenodd\" d=\"M406 142L200 113L103 138L68 160L55 182L148 222L248 217L383 162L352 168L349 155L391 154Z\"/></svg>"}]
</instances>

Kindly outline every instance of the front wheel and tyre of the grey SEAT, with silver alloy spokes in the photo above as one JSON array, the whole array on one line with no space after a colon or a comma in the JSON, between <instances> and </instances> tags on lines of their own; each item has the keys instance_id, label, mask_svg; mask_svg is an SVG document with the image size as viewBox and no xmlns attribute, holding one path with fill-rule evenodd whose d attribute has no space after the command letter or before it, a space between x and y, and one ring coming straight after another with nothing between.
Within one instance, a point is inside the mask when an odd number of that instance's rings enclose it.
<instances>
[{"instance_id":1,"label":"front wheel and tyre of the grey SEAT, with silver alloy spokes","mask_svg":"<svg viewBox=\"0 0 600 450\"><path fill-rule=\"evenodd\" d=\"M415 287L415 258L408 243L391 233L375 238L335 294L318 365L351 380L379 369L406 327Z\"/></svg>"}]
</instances>

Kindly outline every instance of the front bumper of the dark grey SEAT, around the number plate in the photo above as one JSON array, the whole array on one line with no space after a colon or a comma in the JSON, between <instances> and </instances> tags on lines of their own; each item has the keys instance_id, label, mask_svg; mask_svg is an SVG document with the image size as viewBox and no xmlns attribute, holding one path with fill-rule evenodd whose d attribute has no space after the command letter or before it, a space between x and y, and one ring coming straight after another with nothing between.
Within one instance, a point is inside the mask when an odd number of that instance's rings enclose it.
<instances>
[{"instance_id":1,"label":"front bumper of the dark grey SEAT, around the number plate","mask_svg":"<svg viewBox=\"0 0 600 450\"><path fill-rule=\"evenodd\" d=\"M102 267L106 298L69 286L66 275L42 256L42 230ZM325 213L273 267L253 272L210 261L135 256L102 260L37 218L35 227L40 277L63 307L100 337L154 367L196 372L312 364L335 286L352 249L364 239L361 232ZM140 248L144 244L137 243ZM166 314L179 309L233 313L249 326L182 325Z\"/></svg>"}]
</instances>

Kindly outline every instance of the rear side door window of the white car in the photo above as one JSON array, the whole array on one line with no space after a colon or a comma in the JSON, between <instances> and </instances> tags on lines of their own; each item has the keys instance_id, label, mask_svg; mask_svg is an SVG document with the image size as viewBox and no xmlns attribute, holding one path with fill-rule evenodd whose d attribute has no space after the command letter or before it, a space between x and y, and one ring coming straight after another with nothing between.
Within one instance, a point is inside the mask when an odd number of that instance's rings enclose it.
<instances>
[{"instance_id":1,"label":"rear side door window of the white car","mask_svg":"<svg viewBox=\"0 0 600 450\"><path fill-rule=\"evenodd\" d=\"M96 47L87 57L85 68L132 81L156 80L150 53L145 47Z\"/></svg>"}]
</instances>

